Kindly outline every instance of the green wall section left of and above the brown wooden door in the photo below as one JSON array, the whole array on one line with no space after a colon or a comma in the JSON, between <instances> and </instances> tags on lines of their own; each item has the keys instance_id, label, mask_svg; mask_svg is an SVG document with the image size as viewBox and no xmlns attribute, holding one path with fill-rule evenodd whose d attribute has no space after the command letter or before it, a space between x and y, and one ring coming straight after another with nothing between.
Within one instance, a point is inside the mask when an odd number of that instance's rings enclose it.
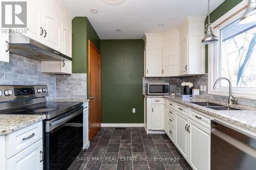
<instances>
[{"instance_id":1,"label":"green wall section left of and above the brown wooden door","mask_svg":"<svg viewBox=\"0 0 256 170\"><path fill-rule=\"evenodd\" d=\"M100 51L100 39L87 17L72 20L72 72L88 72L88 40Z\"/></svg>"}]
</instances>

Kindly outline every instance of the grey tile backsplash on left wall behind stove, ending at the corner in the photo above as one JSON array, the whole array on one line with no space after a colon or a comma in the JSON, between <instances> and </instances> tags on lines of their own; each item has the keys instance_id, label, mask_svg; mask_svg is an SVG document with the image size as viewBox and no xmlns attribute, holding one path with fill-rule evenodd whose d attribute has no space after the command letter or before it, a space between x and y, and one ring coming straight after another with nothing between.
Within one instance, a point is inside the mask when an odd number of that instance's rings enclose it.
<instances>
[{"instance_id":1,"label":"grey tile backsplash on left wall behind stove, ending at the corner","mask_svg":"<svg viewBox=\"0 0 256 170\"><path fill-rule=\"evenodd\" d=\"M49 96L55 99L56 76L41 72L41 62L10 54L10 62L0 61L0 85L47 85Z\"/></svg>"}]
</instances>

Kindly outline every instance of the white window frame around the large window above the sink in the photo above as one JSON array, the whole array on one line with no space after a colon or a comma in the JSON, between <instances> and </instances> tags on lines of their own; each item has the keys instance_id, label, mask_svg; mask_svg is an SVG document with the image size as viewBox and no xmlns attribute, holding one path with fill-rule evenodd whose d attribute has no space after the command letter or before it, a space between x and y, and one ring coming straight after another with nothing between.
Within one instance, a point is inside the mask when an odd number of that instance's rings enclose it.
<instances>
[{"instance_id":1,"label":"white window frame around the large window above the sink","mask_svg":"<svg viewBox=\"0 0 256 170\"><path fill-rule=\"evenodd\" d=\"M239 19L246 11L247 0L242 1L236 7L232 8L222 17L212 23L213 32L220 38L220 30L233 21ZM241 11L241 9L243 9ZM240 12L238 12L240 11ZM228 18L228 19L227 19ZM220 24L221 23L221 24ZM220 66L221 66L221 45L220 42L208 45L208 94L214 95L229 95L229 87L220 87L220 83L217 84L216 89L213 89L215 80L220 77ZM226 80L221 80L226 81ZM245 88L245 87L232 87L233 95L238 98L245 99L256 99L256 88Z\"/></svg>"}]
</instances>

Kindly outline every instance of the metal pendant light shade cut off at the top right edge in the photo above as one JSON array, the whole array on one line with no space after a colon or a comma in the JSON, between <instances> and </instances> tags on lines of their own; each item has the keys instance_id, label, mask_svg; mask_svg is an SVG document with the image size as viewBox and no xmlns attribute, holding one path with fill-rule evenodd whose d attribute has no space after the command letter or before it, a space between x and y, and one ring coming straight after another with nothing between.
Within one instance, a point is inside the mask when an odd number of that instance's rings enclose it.
<instances>
[{"instance_id":1,"label":"metal pendant light shade cut off at the top right edge","mask_svg":"<svg viewBox=\"0 0 256 170\"><path fill-rule=\"evenodd\" d=\"M240 18L240 24L256 21L256 0L249 0L248 7L244 15Z\"/></svg>"}]
</instances>

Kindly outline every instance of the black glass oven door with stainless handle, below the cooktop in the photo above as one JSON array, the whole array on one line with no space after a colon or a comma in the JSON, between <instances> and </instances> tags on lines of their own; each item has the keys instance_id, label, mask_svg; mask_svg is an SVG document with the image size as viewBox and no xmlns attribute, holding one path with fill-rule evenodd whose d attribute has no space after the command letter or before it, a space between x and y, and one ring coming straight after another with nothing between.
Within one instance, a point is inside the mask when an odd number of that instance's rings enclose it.
<instances>
[{"instance_id":1,"label":"black glass oven door with stainless handle, below the cooktop","mask_svg":"<svg viewBox=\"0 0 256 170\"><path fill-rule=\"evenodd\" d=\"M81 106L45 121L45 169L68 169L82 150L82 112Z\"/></svg>"}]
</instances>

